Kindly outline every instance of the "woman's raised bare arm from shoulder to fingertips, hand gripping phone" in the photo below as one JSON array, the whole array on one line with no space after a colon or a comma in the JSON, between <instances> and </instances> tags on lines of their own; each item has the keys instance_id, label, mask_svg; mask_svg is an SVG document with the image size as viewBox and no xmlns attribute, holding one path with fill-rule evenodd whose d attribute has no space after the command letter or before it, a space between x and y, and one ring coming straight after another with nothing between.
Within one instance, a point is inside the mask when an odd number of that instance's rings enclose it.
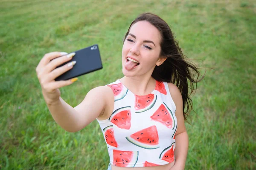
<instances>
[{"instance_id":1,"label":"woman's raised bare arm from shoulder to fingertips, hand gripping phone","mask_svg":"<svg viewBox=\"0 0 256 170\"><path fill-rule=\"evenodd\" d=\"M73 108L61 98L59 88L72 84L75 80L55 81L59 75L72 69L75 62L68 62L75 53L50 52L44 55L35 71L40 82L44 100L54 120L68 132L76 132L102 115L110 100L112 90L106 86L96 87L87 93L84 100Z\"/></svg>"}]
</instances>

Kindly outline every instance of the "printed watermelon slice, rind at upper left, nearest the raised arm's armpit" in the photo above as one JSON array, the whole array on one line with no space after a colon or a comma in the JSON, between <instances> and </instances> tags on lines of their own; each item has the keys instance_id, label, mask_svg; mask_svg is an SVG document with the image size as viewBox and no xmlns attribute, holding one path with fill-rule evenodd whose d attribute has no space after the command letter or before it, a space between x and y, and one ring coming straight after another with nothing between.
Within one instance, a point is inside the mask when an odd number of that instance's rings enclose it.
<instances>
[{"instance_id":1,"label":"printed watermelon slice, rind at upper left, nearest the raised arm's armpit","mask_svg":"<svg viewBox=\"0 0 256 170\"><path fill-rule=\"evenodd\" d=\"M108 119L121 129L130 129L131 127L131 107L121 107L116 109Z\"/></svg>"}]
</instances>

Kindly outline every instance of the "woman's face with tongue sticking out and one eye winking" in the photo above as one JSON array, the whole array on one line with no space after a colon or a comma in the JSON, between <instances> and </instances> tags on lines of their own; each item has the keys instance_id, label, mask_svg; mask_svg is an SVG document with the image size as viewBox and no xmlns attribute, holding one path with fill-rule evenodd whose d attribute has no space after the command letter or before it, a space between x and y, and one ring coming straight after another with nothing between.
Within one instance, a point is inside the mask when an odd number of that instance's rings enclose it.
<instances>
[{"instance_id":1,"label":"woman's face with tongue sticking out and one eye winking","mask_svg":"<svg viewBox=\"0 0 256 170\"><path fill-rule=\"evenodd\" d=\"M126 77L151 76L159 65L160 37L157 28L148 21L131 26L122 48L122 72Z\"/></svg>"}]
</instances>

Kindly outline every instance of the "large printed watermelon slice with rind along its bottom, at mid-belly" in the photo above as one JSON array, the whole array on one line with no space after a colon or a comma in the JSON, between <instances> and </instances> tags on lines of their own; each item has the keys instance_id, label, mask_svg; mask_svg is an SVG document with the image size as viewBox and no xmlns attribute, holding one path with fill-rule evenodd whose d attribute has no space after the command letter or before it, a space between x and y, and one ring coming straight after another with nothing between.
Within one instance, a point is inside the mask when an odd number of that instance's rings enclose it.
<instances>
[{"instance_id":1,"label":"large printed watermelon slice with rind along its bottom, at mid-belly","mask_svg":"<svg viewBox=\"0 0 256 170\"><path fill-rule=\"evenodd\" d=\"M125 137L132 144L145 149L157 149L158 132L156 126L151 126Z\"/></svg>"}]
</instances>

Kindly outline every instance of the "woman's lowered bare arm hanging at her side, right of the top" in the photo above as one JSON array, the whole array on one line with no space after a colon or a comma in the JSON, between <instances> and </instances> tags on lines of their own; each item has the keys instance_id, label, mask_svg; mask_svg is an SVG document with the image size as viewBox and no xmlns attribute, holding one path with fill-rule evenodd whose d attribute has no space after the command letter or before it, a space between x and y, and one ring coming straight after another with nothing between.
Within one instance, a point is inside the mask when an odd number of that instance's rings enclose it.
<instances>
[{"instance_id":1,"label":"woman's lowered bare arm hanging at her side, right of the top","mask_svg":"<svg viewBox=\"0 0 256 170\"><path fill-rule=\"evenodd\" d=\"M189 138L186 133L185 122L183 118L183 102L180 90L174 84L169 83L169 91L176 105L175 116L177 118L177 131L175 134L175 165L171 170L184 170L186 156L189 148Z\"/></svg>"}]
</instances>

